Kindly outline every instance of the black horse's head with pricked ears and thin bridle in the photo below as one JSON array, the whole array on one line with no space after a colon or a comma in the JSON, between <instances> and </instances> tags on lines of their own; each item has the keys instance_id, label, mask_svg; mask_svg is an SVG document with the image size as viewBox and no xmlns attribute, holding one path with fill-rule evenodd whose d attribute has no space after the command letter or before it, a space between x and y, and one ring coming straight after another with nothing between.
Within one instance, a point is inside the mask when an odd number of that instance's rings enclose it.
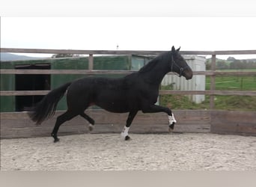
<instances>
[{"instance_id":1,"label":"black horse's head with pricked ears and thin bridle","mask_svg":"<svg viewBox=\"0 0 256 187\"><path fill-rule=\"evenodd\" d=\"M184 76L186 80L192 79L193 72L185 59L179 54L180 48L171 48L171 72L178 73L179 76Z\"/></svg>"}]
</instances>

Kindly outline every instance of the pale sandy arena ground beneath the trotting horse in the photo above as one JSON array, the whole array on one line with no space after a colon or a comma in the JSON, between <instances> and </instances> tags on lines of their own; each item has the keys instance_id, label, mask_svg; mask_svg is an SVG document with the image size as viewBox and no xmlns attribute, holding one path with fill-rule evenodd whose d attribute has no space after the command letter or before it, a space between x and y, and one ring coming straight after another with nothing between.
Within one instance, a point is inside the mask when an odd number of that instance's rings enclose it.
<instances>
[{"instance_id":1,"label":"pale sandy arena ground beneath the trotting horse","mask_svg":"<svg viewBox=\"0 0 256 187\"><path fill-rule=\"evenodd\" d=\"M1 140L1 171L256 171L256 137L84 134Z\"/></svg>"}]
</instances>

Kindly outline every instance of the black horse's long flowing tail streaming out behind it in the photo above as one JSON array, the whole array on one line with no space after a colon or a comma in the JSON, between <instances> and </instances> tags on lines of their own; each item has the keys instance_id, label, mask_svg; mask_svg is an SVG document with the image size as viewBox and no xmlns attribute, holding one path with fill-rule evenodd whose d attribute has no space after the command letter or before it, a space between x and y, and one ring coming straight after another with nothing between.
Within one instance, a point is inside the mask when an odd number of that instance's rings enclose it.
<instances>
[{"instance_id":1,"label":"black horse's long flowing tail streaming out behind it","mask_svg":"<svg viewBox=\"0 0 256 187\"><path fill-rule=\"evenodd\" d=\"M67 91L67 88L71 83L72 82L68 82L59 88L55 88L44 96L43 99L34 107L28 108L28 116L31 120L40 124L43 120L52 117L55 114L59 100L64 96L64 93Z\"/></svg>"}]
</instances>

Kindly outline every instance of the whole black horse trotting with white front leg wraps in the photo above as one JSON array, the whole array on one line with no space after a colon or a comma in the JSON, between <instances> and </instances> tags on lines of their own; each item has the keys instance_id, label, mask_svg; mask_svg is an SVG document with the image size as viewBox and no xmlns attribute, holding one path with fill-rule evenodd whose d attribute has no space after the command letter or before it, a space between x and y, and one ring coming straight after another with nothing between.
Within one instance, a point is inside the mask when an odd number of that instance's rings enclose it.
<instances>
[{"instance_id":1,"label":"whole black horse trotting with white front leg wraps","mask_svg":"<svg viewBox=\"0 0 256 187\"><path fill-rule=\"evenodd\" d=\"M40 124L55 113L58 101L67 91L67 111L57 117L52 137L59 141L57 133L62 123L80 115L88 120L92 130L94 120L85 114L86 108L98 105L101 108L117 113L129 112L127 124L121 132L125 140L129 140L129 126L138 111L143 113L165 112L168 114L169 129L174 129L174 115L171 109L155 105L159 95L159 85L168 72L178 73L186 79L192 79L192 70L174 46L171 52L163 52L153 58L138 72L120 79L85 77L68 82L50 91L28 112L31 120Z\"/></svg>"}]
</instances>

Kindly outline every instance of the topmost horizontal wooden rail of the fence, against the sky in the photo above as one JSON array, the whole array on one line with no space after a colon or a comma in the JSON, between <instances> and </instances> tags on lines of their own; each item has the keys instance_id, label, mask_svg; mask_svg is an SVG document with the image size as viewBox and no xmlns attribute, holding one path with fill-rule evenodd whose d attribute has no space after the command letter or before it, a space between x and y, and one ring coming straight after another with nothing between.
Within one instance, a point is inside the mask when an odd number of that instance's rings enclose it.
<instances>
[{"instance_id":1,"label":"topmost horizontal wooden rail of the fence, against the sky","mask_svg":"<svg viewBox=\"0 0 256 187\"><path fill-rule=\"evenodd\" d=\"M44 53L44 54L79 54L79 55L158 55L165 51L136 51L136 50L73 50L73 49L19 49L1 48L1 52ZM256 50L233 51L180 51L181 55L255 55Z\"/></svg>"}]
</instances>

